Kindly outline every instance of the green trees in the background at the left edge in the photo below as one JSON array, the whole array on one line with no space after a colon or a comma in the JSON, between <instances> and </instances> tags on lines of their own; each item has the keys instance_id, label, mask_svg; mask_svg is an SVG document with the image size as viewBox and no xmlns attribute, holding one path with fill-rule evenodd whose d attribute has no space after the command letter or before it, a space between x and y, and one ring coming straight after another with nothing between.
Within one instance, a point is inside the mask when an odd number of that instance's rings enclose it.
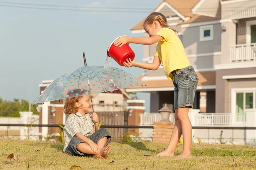
<instances>
[{"instance_id":1,"label":"green trees in the background at the left edge","mask_svg":"<svg viewBox=\"0 0 256 170\"><path fill-rule=\"evenodd\" d=\"M37 105L31 105L33 114L38 114ZM20 111L29 111L29 102L24 99L7 101L0 98L0 116L19 117Z\"/></svg>"}]
</instances>

